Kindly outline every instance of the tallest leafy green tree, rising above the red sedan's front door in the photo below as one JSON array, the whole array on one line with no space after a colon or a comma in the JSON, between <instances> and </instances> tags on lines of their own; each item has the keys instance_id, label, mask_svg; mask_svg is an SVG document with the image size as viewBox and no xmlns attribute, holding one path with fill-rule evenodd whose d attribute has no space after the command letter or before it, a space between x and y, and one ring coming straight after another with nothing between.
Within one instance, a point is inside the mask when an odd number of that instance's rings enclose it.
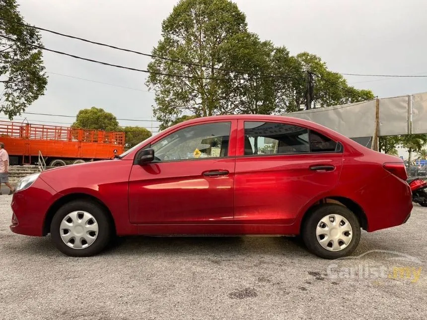
<instances>
[{"instance_id":1,"label":"tallest leafy green tree, rising above the red sedan's front door","mask_svg":"<svg viewBox=\"0 0 427 320\"><path fill-rule=\"evenodd\" d=\"M146 85L155 91L153 112L158 121L169 126L183 113L198 117L222 113L233 77L229 71L217 68L223 68L227 42L246 31L246 16L229 0L181 0L174 6L162 22L162 39L152 54L209 67L159 58L148 64L148 70L154 73L150 73Z\"/></svg>"}]
</instances>

